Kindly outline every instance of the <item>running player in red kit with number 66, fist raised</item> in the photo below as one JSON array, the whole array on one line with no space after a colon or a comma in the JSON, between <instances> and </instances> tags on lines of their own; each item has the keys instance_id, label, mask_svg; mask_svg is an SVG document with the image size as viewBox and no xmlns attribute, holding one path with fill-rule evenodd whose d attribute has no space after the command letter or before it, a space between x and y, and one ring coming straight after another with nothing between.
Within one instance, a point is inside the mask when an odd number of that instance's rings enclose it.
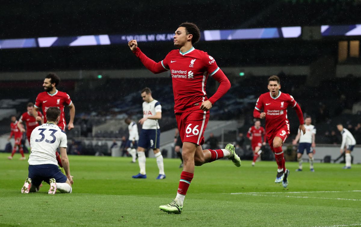
<instances>
[{"instance_id":1,"label":"running player in red kit with number 66, fist raised","mask_svg":"<svg viewBox=\"0 0 361 227\"><path fill-rule=\"evenodd\" d=\"M217 66L216 60L206 52L193 47L199 39L200 31L195 24L182 23L174 35L174 46L179 50L172 50L158 63L142 53L137 47L136 40L130 40L128 43L131 51L148 70L153 73L170 70L173 81L174 112L183 142L184 166L177 197L170 204L159 207L168 213L182 212L184 197L192 181L195 165L200 166L223 157L229 157L236 166L241 165L241 160L235 154L232 144L227 144L225 149L220 150L203 150L201 147L204 143L204 130L209 120L209 109L231 85ZM205 85L209 75L220 84L217 92L208 99Z\"/></svg>"}]
</instances>

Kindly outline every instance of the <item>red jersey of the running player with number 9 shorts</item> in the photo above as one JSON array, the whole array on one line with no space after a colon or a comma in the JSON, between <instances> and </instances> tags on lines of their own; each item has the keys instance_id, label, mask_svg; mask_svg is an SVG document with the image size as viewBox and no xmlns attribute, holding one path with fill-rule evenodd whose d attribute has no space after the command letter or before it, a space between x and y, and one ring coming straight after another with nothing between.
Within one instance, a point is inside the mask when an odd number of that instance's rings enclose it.
<instances>
[{"instance_id":1,"label":"red jersey of the running player with number 9 shorts","mask_svg":"<svg viewBox=\"0 0 361 227\"><path fill-rule=\"evenodd\" d=\"M270 92L261 94L257 99L255 109L266 113L266 133L272 134L276 130L285 127L290 134L290 124L287 119L287 107L296 107L297 102L292 95L282 93L279 91L277 97L272 97ZM302 113L301 113L302 114ZM301 122L302 120L302 122ZM303 124L303 118L301 116L300 123Z\"/></svg>"}]
</instances>

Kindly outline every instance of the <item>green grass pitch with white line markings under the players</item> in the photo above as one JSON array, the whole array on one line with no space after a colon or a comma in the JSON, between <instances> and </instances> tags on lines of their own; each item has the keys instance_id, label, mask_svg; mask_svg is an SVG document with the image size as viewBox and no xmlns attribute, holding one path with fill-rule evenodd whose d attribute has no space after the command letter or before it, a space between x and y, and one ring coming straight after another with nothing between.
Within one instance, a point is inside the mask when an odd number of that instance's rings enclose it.
<instances>
[{"instance_id":1,"label":"green grass pitch with white line markings under the players","mask_svg":"<svg viewBox=\"0 0 361 227\"><path fill-rule=\"evenodd\" d=\"M243 161L236 168L219 160L196 167L183 212L175 215L158 206L175 197L178 159L164 159L166 179L156 180L155 159L147 159L147 179L132 179L139 167L130 158L69 156L73 193L48 195L44 182L39 192L21 194L27 161L18 160L18 153L13 160L6 156L0 153L0 226L361 225L361 191L351 192L361 190L360 165L344 170L342 164L316 163L311 173L308 163L303 172L295 172L297 163L286 163L291 174L284 189L274 183L275 162L252 167ZM231 194L238 192L245 194Z\"/></svg>"}]
</instances>

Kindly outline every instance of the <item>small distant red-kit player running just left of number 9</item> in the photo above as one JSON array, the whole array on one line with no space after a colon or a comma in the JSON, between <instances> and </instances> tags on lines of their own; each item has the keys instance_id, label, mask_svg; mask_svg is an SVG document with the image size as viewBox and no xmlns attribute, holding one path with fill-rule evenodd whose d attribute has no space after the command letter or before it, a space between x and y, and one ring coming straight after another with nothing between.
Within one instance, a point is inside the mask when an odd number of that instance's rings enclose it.
<instances>
[{"instance_id":1,"label":"small distant red-kit player running just left of number 9","mask_svg":"<svg viewBox=\"0 0 361 227\"><path fill-rule=\"evenodd\" d=\"M266 132L263 127L261 127L261 121L256 120L255 126L249 128L247 133L248 139L251 140L251 147L253 151L253 162L252 166L255 166L256 160L260 156L262 145L266 145ZM263 137L263 142L262 142Z\"/></svg>"}]
</instances>

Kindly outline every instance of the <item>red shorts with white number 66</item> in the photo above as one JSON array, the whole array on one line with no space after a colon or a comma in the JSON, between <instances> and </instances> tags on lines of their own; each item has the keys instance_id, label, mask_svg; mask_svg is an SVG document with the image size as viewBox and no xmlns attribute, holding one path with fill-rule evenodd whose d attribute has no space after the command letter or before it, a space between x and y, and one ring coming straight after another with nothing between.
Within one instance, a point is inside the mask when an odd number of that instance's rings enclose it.
<instances>
[{"instance_id":1,"label":"red shorts with white number 66","mask_svg":"<svg viewBox=\"0 0 361 227\"><path fill-rule=\"evenodd\" d=\"M209 111L192 110L176 113L179 135L182 142L190 142L198 145L204 143L204 131L209 120Z\"/></svg>"}]
</instances>

